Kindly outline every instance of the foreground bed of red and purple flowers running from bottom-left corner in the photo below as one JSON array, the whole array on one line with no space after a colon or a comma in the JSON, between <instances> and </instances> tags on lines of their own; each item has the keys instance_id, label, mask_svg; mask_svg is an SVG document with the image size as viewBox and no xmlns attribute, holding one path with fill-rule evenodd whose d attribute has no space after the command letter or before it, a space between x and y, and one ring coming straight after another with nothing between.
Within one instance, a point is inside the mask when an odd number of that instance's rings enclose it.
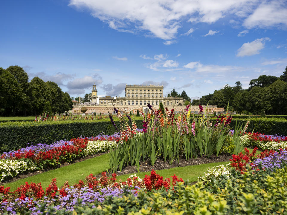
<instances>
[{"instance_id":1,"label":"foreground bed of red and purple flowers running from bottom-left corner","mask_svg":"<svg viewBox=\"0 0 287 215\"><path fill-rule=\"evenodd\" d=\"M146 175L144 179L131 175L124 182L116 182L115 173L109 178L103 172L99 179L90 174L86 177L86 182L79 181L78 184L70 186L67 181L61 188L58 188L57 180L53 179L45 191L40 183L28 184L26 182L14 192L11 192L10 188L0 186L0 196L2 197L0 213L15 214L28 210L32 215L42 214L39 213L38 208L43 204L46 205L45 209L48 208L48 205L53 204L54 210L73 211L76 206L85 206L95 202L102 203L109 197L121 197L124 192L137 196L140 190L149 192L162 187L173 189L176 182L183 182L183 180L174 175L171 184L170 179L163 179L155 171L151 171L151 174Z\"/></svg>"}]
</instances>

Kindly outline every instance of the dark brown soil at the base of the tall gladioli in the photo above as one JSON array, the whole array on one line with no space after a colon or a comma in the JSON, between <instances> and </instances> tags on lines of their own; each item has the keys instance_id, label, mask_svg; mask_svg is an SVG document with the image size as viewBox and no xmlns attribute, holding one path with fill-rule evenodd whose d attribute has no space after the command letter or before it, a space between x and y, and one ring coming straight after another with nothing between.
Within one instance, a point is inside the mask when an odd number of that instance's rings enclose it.
<instances>
[{"instance_id":1,"label":"dark brown soil at the base of the tall gladioli","mask_svg":"<svg viewBox=\"0 0 287 215\"><path fill-rule=\"evenodd\" d=\"M174 167L184 167L184 166L190 166L190 165L199 165L199 164L207 164L207 163L214 163L214 162L224 162L229 161L229 159L232 159L232 156L229 154L223 154L216 157L215 155L210 156L209 158L206 158L205 156L200 157L198 156L197 159L189 159L188 161L185 159L185 157L181 157L179 159L179 164L176 162L176 160L173 161L172 165L169 164L169 161L167 160L164 162L164 159L162 157L159 157L155 161L155 165L150 165L149 160L146 161L140 161L140 172L150 172L152 170L162 170L162 169L170 169ZM117 175L125 175L130 173L137 173L137 167L136 166L126 166L121 172L117 172ZM111 175L111 174L108 174ZM98 174L96 177L99 178L101 174Z\"/></svg>"}]
</instances>

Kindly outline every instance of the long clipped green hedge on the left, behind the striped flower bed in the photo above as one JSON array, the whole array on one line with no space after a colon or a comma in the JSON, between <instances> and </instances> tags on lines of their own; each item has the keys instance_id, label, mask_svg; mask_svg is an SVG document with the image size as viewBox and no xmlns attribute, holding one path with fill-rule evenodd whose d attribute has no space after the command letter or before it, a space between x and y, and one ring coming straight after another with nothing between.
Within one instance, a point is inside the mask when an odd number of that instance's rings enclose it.
<instances>
[{"instance_id":1,"label":"long clipped green hedge on the left, behind the striped flower bed","mask_svg":"<svg viewBox=\"0 0 287 215\"><path fill-rule=\"evenodd\" d=\"M119 128L119 120L114 117ZM138 128L143 128L143 118L135 117ZM45 121L45 122L3 122L0 123L0 153L24 148L27 143L51 144L59 140L69 140L80 136L111 135L115 127L110 119L97 121Z\"/></svg>"}]
</instances>

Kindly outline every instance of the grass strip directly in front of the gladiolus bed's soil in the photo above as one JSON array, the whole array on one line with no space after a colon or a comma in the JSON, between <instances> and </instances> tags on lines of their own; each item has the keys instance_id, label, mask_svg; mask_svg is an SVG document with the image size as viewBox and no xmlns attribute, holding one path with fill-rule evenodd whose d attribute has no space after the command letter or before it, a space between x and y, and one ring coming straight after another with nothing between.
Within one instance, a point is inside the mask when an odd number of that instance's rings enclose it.
<instances>
[{"instance_id":1,"label":"grass strip directly in front of the gladiolus bed's soil","mask_svg":"<svg viewBox=\"0 0 287 215\"><path fill-rule=\"evenodd\" d=\"M192 166L185 166L185 167L175 167L170 169L164 169L164 170L156 170L155 172L159 174L160 176L163 176L163 178L170 178L172 181L172 176L176 175L178 178L182 178L184 180L189 180L189 182L197 181L197 178L199 175L206 172L207 168L211 168L214 166L227 164L229 162L218 162L218 163L209 163L209 164L200 164L200 165L192 165ZM121 179L122 181L125 181L130 175L132 174L126 174L117 176L117 180ZM145 175L150 175L150 172L139 172L136 173L137 176L140 178L144 178Z\"/></svg>"}]
</instances>

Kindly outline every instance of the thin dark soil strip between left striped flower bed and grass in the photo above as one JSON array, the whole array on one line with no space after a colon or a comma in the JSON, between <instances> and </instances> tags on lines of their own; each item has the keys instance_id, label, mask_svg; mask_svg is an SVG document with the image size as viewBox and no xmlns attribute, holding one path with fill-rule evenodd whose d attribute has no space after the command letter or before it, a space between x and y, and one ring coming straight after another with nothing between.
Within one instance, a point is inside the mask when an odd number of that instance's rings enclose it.
<instances>
[{"instance_id":1,"label":"thin dark soil strip between left striped flower bed and grass","mask_svg":"<svg viewBox=\"0 0 287 215\"><path fill-rule=\"evenodd\" d=\"M17 181L19 179L27 178L27 177L30 177L30 176L33 176L33 175L38 175L38 174L41 174L41 173L44 173L44 172L47 172L47 171L50 171L50 170L53 170L53 169L57 169L59 167L64 167L64 166L68 166L70 164L78 163L78 162L81 162L81 161L84 161L84 160L87 160L87 159L90 159L90 158L101 156L101 155L106 154L106 153L109 153L109 151L105 152L105 153L98 153L98 154L95 154L95 155L89 155L89 156L86 156L86 157L83 157L83 158L78 158L78 159L74 160L71 163L61 163L61 165L58 165L58 166L56 166L54 168L51 167L51 168L47 168L47 169L43 169L43 170L38 170L38 171L35 171L35 172L22 173L22 174L19 174L19 175L13 177L13 178L9 177L9 178L4 179L3 181L0 182L0 185L4 185L5 183L10 183L10 182L15 182L15 181Z\"/></svg>"}]
</instances>

